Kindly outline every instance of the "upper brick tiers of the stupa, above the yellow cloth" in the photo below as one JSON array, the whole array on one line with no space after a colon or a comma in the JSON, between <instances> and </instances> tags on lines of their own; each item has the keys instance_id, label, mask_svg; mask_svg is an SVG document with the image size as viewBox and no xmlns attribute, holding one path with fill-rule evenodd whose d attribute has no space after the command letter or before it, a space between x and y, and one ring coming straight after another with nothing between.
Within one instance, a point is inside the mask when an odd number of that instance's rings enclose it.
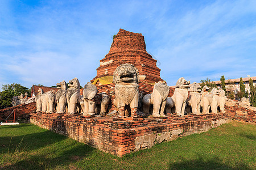
<instances>
[{"instance_id":1,"label":"upper brick tiers of the stupa, above the yellow cloth","mask_svg":"<svg viewBox=\"0 0 256 170\"><path fill-rule=\"evenodd\" d=\"M112 76L115 69L123 63L131 63L137 67L141 82L154 83L162 80L160 69L156 66L156 60L146 51L144 36L141 33L119 29L113 39L109 53L100 60L97 76L93 80Z\"/></svg>"}]
</instances>

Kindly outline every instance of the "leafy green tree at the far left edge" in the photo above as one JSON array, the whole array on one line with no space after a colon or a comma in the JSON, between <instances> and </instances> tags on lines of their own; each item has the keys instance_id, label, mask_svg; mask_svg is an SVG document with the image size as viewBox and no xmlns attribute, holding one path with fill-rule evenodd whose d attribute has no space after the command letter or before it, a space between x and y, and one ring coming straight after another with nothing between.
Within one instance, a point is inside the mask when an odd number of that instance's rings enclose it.
<instances>
[{"instance_id":1,"label":"leafy green tree at the far left edge","mask_svg":"<svg viewBox=\"0 0 256 170\"><path fill-rule=\"evenodd\" d=\"M11 99L14 96L20 94L25 94L27 92L28 96L31 94L31 89L21 86L20 84L4 84L2 87L2 92L0 93L0 108L11 107Z\"/></svg>"}]
</instances>

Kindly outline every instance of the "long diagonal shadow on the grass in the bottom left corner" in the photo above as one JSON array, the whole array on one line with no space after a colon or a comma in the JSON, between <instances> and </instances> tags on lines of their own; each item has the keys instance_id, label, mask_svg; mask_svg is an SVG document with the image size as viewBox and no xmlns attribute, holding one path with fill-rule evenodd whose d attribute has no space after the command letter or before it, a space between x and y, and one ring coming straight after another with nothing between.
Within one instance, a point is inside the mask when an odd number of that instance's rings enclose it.
<instances>
[{"instance_id":1,"label":"long diagonal shadow on the grass in the bottom left corner","mask_svg":"<svg viewBox=\"0 0 256 170\"><path fill-rule=\"evenodd\" d=\"M63 167L63 165L73 169L73 167L70 167L72 166L70 164L89 156L93 150L93 147L81 144L80 146L72 147L69 150L63 151L55 158L48 158L48 154L42 155L40 153L36 155L28 155L28 158L12 165L5 165L2 169L62 169L61 167Z\"/></svg>"}]
</instances>

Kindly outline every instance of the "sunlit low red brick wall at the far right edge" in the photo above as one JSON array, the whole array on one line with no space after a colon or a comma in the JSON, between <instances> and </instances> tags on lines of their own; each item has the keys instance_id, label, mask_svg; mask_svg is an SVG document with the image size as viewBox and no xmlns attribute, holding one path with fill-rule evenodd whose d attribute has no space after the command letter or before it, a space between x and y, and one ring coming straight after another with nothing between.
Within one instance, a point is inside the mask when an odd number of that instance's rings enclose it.
<instances>
[{"instance_id":1,"label":"sunlit low red brick wall at the far right edge","mask_svg":"<svg viewBox=\"0 0 256 170\"><path fill-rule=\"evenodd\" d=\"M240 101L228 100L225 105L226 115L233 120L256 122L256 108L242 105Z\"/></svg>"}]
</instances>

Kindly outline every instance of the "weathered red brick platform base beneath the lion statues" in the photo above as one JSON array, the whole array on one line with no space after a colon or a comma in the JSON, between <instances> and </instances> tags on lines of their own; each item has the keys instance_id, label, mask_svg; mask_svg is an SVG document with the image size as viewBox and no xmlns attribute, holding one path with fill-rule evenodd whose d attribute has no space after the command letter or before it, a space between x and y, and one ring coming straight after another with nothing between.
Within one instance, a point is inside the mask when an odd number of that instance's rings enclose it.
<instances>
[{"instance_id":1,"label":"weathered red brick platform base beneath the lion statues","mask_svg":"<svg viewBox=\"0 0 256 170\"><path fill-rule=\"evenodd\" d=\"M32 124L67 135L102 151L122 156L201 133L231 121L224 114L185 117L112 118L69 116L67 114L30 113Z\"/></svg>"}]
</instances>

